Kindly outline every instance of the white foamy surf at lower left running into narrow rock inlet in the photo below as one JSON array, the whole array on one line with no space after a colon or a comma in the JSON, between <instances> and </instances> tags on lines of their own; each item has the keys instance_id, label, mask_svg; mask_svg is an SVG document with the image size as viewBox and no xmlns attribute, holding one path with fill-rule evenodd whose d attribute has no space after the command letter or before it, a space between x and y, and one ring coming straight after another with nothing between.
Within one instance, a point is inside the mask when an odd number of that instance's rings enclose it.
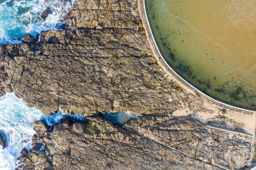
<instances>
[{"instance_id":1,"label":"white foamy surf at lower left running into narrow rock inlet","mask_svg":"<svg viewBox=\"0 0 256 170\"><path fill-rule=\"evenodd\" d=\"M35 134L33 130L35 121L43 120L51 128L62 118L68 118L71 121L86 120L85 116L67 115L60 111L46 116L38 109L27 107L26 103L17 98L14 93L7 93L0 97L0 133L4 135L7 142L6 148L2 149L0 146L0 170L14 170L20 151L24 147L28 150L31 148L31 138Z\"/></svg>"}]
</instances>

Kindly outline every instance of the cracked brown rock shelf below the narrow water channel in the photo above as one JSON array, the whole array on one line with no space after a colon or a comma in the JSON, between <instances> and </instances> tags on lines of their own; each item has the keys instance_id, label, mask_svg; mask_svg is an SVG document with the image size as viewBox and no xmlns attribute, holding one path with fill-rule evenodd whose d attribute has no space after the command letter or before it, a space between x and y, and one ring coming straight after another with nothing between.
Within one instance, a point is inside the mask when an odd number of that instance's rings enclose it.
<instances>
[{"instance_id":1,"label":"cracked brown rock shelf below the narrow water channel","mask_svg":"<svg viewBox=\"0 0 256 170\"><path fill-rule=\"evenodd\" d=\"M250 158L250 136L221 132L191 117L146 115L119 127L96 115L84 124L64 121L52 132L42 121L34 127L33 142L44 143L45 150L21 157L20 169L222 170L243 167Z\"/></svg>"}]
</instances>

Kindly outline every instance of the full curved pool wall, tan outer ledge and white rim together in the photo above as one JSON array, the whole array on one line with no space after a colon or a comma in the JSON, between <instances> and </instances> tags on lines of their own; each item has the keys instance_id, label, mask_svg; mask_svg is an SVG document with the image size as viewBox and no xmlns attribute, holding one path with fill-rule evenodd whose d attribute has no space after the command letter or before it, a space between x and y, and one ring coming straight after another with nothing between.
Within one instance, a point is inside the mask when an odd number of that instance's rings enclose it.
<instances>
[{"instance_id":1,"label":"full curved pool wall, tan outer ledge and white rim together","mask_svg":"<svg viewBox=\"0 0 256 170\"><path fill-rule=\"evenodd\" d=\"M145 32L148 38L148 42L151 46L151 49L154 53L154 56L157 60L157 62L159 63L160 67L162 67L165 71L165 73L167 74L167 76L175 81L177 84L179 84L180 86L183 87L183 89L185 89L186 91L194 94L194 95L203 95L203 97L206 100L210 100L212 101L214 104L221 106L221 107L227 107L228 109L234 109L236 111L246 111L246 112L252 112L252 113L256 113L256 111L253 110L248 110L248 109L243 109L243 108L239 108L239 107L235 107L232 106L230 104L226 104L223 103L221 101L215 100L214 98L211 98L210 96L204 94L203 92L201 92L200 90L198 90L197 88L195 88L194 86L192 86L191 84L189 84L186 80L184 80L182 77L180 77L180 75L178 75L169 65L168 63L164 60L163 56L160 53L160 50L157 47L157 43L154 40L154 36L153 33L151 31L151 27L149 25L148 22L148 17L146 14L146 9L145 9L145 0L139 0L139 12L140 12L140 17L143 21L143 26L145 28ZM199 93L199 94L198 94Z\"/></svg>"}]
</instances>

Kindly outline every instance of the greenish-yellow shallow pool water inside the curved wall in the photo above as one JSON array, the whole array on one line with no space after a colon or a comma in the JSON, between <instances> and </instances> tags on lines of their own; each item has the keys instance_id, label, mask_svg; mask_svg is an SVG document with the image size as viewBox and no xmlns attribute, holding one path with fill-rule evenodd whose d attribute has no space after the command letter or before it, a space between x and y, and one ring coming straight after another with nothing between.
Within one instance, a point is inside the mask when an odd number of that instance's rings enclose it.
<instances>
[{"instance_id":1,"label":"greenish-yellow shallow pool water inside the curved wall","mask_svg":"<svg viewBox=\"0 0 256 170\"><path fill-rule=\"evenodd\" d=\"M166 62L212 98L256 109L256 1L145 0Z\"/></svg>"}]
</instances>

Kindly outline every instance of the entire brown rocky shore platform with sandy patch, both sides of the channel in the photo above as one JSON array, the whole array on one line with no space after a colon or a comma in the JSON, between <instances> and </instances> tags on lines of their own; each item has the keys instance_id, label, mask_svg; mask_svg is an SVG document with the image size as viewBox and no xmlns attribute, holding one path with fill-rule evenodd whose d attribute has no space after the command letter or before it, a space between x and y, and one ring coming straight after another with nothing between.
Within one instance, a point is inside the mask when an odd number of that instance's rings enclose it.
<instances>
[{"instance_id":1,"label":"entire brown rocky shore platform with sandy patch, both sides of the channel","mask_svg":"<svg viewBox=\"0 0 256 170\"><path fill-rule=\"evenodd\" d=\"M189 87L160 58L143 0L80 0L63 30L0 45L0 92L45 115L87 116L49 130L35 122L27 170L234 170L254 160L255 112ZM97 112L143 117L113 125Z\"/></svg>"}]
</instances>

